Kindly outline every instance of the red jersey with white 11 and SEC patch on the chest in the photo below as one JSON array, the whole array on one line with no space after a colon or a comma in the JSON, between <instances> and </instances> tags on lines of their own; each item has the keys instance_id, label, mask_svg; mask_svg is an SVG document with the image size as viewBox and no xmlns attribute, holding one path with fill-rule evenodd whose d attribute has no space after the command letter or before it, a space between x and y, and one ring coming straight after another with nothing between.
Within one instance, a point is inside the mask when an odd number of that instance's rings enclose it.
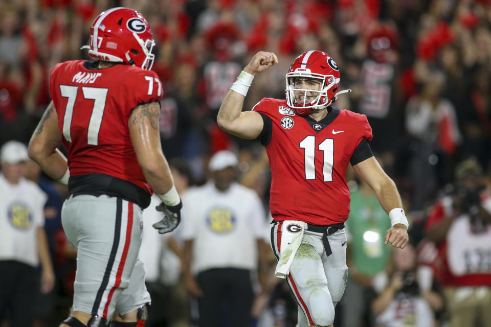
<instances>
[{"instance_id":1,"label":"red jersey with white 11 and SEC patch on the chest","mask_svg":"<svg viewBox=\"0 0 491 327\"><path fill-rule=\"evenodd\" d=\"M272 121L266 144L270 159L271 214L315 225L344 222L349 215L346 168L355 148L372 139L365 115L331 107L316 122L285 100L262 99L253 108Z\"/></svg>"}]
</instances>

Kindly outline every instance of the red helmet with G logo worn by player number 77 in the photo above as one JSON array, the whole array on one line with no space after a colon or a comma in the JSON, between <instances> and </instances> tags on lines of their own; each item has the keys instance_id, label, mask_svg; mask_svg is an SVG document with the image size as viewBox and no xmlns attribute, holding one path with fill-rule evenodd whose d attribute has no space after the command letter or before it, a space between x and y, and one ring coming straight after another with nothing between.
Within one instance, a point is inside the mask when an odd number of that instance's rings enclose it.
<instances>
[{"instance_id":1,"label":"red helmet with G logo worn by player number 77","mask_svg":"<svg viewBox=\"0 0 491 327\"><path fill-rule=\"evenodd\" d=\"M145 17L129 8L112 8L94 19L88 55L99 60L125 62L151 69L155 42Z\"/></svg>"}]
</instances>

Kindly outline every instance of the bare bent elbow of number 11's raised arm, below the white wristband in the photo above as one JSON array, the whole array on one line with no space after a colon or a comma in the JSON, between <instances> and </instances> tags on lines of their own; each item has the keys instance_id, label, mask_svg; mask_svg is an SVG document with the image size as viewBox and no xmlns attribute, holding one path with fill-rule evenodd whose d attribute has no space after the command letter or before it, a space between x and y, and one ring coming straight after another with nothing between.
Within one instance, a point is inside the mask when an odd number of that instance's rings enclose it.
<instances>
[{"instance_id":1,"label":"bare bent elbow of number 11's raised arm, below the white wristband","mask_svg":"<svg viewBox=\"0 0 491 327\"><path fill-rule=\"evenodd\" d=\"M264 123L258 112L242 112L244 98L230 90L221 103L216 122L221 129L235 136L254 139L261 133Z\"/></svg>"}]
</instances>

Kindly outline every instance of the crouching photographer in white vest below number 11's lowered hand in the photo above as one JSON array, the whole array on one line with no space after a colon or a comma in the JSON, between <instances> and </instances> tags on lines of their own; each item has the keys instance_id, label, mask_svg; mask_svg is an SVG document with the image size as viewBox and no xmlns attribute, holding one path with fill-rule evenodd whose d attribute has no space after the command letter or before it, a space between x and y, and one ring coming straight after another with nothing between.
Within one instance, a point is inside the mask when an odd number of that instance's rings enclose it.
<instances>
[{"instance_id":1,"label":"crouching photographer in white vest below number 11's lowered hand","mask_svg":"<svg viewBox=\"0 0 491 327\"><path fill-rule=\"evenodd\" d=\"M443 296L432 278L418 274L416 251L411 244L394 249L387 274L376 282L378 295L371 303L381 327L433 326L435 312L443 308Z\"/></svg>"}]
</instances>

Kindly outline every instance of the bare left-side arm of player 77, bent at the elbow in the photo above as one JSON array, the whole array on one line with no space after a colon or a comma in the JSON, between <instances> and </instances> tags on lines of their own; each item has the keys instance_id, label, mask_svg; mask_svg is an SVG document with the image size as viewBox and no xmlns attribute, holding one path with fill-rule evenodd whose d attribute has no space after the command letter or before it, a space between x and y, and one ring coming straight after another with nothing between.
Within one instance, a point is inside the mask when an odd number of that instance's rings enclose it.
<instances>
[{"instance_id":1,"label":"bare left-side arm of player 77, bent at the elbow","mask_svg":"<svg viewBox=\"0 0 491 327\"><path fill-rule=\"evenodd\" d=\"M61 144L58 115L52 101L31 136L28 153L53 179L60 179L68 169L66 157L57 149Z\"/></svg>"}]
</instances>

